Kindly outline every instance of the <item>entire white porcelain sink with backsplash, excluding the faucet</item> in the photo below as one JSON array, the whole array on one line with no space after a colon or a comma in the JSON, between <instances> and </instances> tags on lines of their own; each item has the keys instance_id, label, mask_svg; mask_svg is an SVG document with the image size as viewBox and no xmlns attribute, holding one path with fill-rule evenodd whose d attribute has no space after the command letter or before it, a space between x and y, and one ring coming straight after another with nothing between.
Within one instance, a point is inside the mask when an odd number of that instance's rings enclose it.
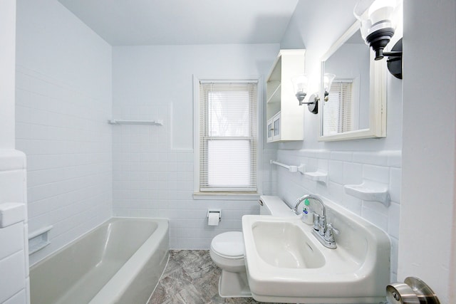
<instances>
[{"instance_id":1,"label":"entire white porcelain sink with backsplash, excluding the faucet","mask_svg":"<svg viewBox=\"0 0 456 304\"><path fill-rule=\"evenodd\" d=\"M324 247L311 234L312 226L298 216L242 217L247 278L255 300L385 301L385 286L390 281L388 236L336 204L329 204L329 208L327 215L341 231L336 236L336 249Z\"/></svg>"}]
</instances>

